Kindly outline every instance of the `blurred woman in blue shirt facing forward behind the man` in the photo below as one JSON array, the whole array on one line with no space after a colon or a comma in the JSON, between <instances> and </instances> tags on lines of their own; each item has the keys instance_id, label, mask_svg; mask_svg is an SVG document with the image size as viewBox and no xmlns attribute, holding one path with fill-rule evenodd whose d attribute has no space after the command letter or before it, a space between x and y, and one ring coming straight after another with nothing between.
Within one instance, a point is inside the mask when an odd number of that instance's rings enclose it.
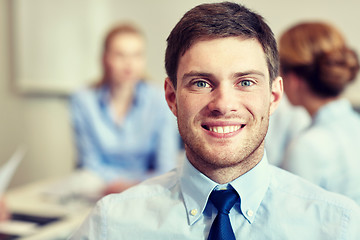
<instances>
[{"instance_id":1,"label":"blurred woman in blue shirt facing forward behind the man","mask_svg":"<svg viewBox=\"0 0 360 240\"><path fill-rule=\"evenodd\" d=\"M160 89L144 82L145 38L133 25L111 29L103 76L71 99L79 165L121 192L176 164L176 120Z\"/></svg>"}]
</instances>

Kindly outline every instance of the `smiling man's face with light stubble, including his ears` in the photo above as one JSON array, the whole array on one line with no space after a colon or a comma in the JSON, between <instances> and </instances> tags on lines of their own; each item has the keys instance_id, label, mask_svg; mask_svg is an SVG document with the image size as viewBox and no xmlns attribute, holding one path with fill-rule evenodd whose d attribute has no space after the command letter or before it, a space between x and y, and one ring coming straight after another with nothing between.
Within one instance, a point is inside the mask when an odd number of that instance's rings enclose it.
<instances>
[{"instance_id":1,"label":"smiling man's face with light stubble, including his ears","mask_svg":"<svg viewBox=\"0 0 360 240\"><path fill-rule=\"evenodd\" d=\"M275 79L270 90L257 40L228 37L195 43L180 58L177 89L167 79L165 91L194 165L216 169L261 159L282 82Z\"/></svg>"}]
</instances>

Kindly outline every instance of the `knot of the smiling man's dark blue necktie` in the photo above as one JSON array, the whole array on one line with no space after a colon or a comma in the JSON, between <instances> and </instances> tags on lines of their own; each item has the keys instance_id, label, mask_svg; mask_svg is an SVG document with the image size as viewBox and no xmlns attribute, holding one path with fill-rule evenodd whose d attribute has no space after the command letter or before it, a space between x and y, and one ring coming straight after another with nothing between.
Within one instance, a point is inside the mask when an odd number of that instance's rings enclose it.
<instances>
[{"instance_id":1,"label":"knot of the smiling man's dark blue necktie","mask_svg":"<svg viewBox=\"0 0 360 240\"><path fill-rule=\"evenodd\" d=\"M239 195L234 189L212 191L210 200L219 213L229 214L230 209L239 199Z\"/></svg>"}]
</instances>

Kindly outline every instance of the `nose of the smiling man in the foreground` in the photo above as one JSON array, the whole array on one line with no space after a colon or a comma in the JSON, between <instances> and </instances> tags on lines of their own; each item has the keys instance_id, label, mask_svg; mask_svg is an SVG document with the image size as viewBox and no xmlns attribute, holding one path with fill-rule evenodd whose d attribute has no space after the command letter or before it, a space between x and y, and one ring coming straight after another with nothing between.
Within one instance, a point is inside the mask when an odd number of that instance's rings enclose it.
<instances>
[{"instance_id":1,"label":"nose of the smiling man in the foreground","mask_svg":"<svg viewBox=\"0 0 360 240\"><path fill-rule=\"evenodd\" d=\"M212 92L212 100L208 109L214 115L226 115L237 111L236 90L232 87L218 86Z\"/></svg>"}]
</instances>

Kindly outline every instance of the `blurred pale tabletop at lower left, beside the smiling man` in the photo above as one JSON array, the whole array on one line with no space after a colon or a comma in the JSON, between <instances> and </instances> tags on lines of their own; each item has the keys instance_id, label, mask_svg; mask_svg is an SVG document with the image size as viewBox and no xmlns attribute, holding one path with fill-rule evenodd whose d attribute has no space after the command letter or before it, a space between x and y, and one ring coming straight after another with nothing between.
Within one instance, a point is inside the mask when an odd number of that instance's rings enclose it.
<instances>
[{"instance_id":1,"label":"blurred pale tabletop at lower left, beside the smiling man","mask_svg":"<svg viewBox=\"0 0 360 240\"><path fill-rule=\"evenodd\" d=\"M84 180L81 177L79 179ZM60 181L59 179L46 179L17 187L6 193L6 203L11 212L44 217L60 217L60 220L56 222L49 223L41 228L37 227L36 233L17 239L67 239L81 225L96 201L85 198L81 194L64 194L64 191L58 196L49 193L49 188L53 188L50 189L50 192L61 192L61 186L64 188L65 185L71 185L71 182L74 182L73 177L66 181L63 179ZM72 186L74 185L76 183L72 184ZM79 186L75 188L79 188ZM69 189L67 188L66 191L69 192Z\"/></svg>"}]
</instances>

